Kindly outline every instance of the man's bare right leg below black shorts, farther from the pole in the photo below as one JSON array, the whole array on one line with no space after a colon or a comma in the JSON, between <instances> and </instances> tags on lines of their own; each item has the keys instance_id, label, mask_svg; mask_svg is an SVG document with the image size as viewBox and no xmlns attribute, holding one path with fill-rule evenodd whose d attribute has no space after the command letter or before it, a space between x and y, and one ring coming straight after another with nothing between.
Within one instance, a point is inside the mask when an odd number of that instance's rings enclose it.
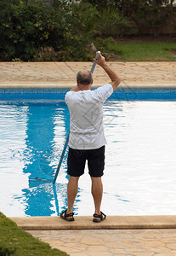
<instances>
[{"instance_id":1,"label":"man's bare right leg below black shorts, farther from the pole","mask_svg":"<svg viewBox=\"0 0 176 256\"><path fill-rule=\"evenodd\" d=\"M100 214L100 207L103 195L103 184L101 177L91 177L92 179L92 195L94 198L94 213Z\"/></svg>"}]
</instances>

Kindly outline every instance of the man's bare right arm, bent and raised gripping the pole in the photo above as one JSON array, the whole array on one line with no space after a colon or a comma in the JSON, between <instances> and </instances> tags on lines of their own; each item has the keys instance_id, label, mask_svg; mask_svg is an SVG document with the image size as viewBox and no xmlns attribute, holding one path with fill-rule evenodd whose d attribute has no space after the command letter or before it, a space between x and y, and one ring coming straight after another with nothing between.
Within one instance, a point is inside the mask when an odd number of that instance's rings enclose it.
<instances>
[{"instance_id":1,"label":"man's bare right arm, bent and raised gripping the pole","mask_svg":"<svg viewBox=\"0 0 176 256\"><path fill-rule=\"evenodd\" d=\"M102 67L105 70L105 73L109 76L111 79L111 82L109 84L112 85L113 90L116 90L116 87L121 83L121 79L119 76L105 63L105 57L102 55L99 55L99 61L95 60L97 64Z\"/></svg>"}]
</instances>

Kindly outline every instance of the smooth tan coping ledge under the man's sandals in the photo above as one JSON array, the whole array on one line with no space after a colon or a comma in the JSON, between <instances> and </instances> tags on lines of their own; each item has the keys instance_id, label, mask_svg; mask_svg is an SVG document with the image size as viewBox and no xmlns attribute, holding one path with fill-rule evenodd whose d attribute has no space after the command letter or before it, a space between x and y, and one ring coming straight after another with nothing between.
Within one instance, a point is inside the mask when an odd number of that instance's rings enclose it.
<instances>
[{"instance_id":1,"label":"smooth tan coping ledge under the man's sandals","mask_svg":"<svg viewBox=\"0 0 176 256\"><path fill-rule=\"evenodd\" d=\"M94 223L91 216L76 216L66 222L60 217L10 217L23 230L133 230L176 229L176 215L108 216Z\"/></svg>"}]
</instances>

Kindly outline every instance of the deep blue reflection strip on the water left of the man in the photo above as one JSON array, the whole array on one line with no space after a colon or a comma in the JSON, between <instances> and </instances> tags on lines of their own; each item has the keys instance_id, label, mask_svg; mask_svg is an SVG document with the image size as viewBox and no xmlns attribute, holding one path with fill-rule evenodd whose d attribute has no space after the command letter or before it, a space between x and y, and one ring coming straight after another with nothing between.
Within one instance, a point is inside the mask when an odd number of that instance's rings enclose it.
<instances>
[{"instance_id":1,"label":"deep blue reflection strip on the water left of the man","mask_svg":"<svg viewBox=\"0 0 176 256\"><path fill-rule=\"evenodd\" d=\"M61 102L60 102L61 104ZM58 196L66 205L66 184L32 181L32 177L53 180L58 162L60 141L65 140L68 129L68 111L63 106L30 105L26 118L26 146L29 154L23 172L29 173L29 188L23 189L27 216L51 216L60 213ZM59 126L57 130L55 126ZM61 147L60 147L61 146ZM55 161L54 161L55 160ZM53 162L52 162L53 161ZM59 193L58 193L59 191Z\"/></svg>"}]
</instances>

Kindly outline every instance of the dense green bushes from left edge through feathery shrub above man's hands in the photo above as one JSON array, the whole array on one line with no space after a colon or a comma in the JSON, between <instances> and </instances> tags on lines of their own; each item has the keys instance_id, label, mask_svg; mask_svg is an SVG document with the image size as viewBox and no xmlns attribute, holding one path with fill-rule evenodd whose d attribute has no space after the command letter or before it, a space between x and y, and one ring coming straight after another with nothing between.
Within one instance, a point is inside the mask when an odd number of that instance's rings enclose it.
<instances>
[{"instance_id":1,"label":"dense green bushes from left edge through feathery shrub above man's hands","mask_svg":"<svg viewBox=\"0 0 176 256\"><path fill-rule=\"evenodd\" d=\"M59 0L53 7L0 0L0 23L0 61L92 61L88 44L112 26L113 34L130 26L116 9L100 11L91 3Z\"/></svg>"}]
</instances>

